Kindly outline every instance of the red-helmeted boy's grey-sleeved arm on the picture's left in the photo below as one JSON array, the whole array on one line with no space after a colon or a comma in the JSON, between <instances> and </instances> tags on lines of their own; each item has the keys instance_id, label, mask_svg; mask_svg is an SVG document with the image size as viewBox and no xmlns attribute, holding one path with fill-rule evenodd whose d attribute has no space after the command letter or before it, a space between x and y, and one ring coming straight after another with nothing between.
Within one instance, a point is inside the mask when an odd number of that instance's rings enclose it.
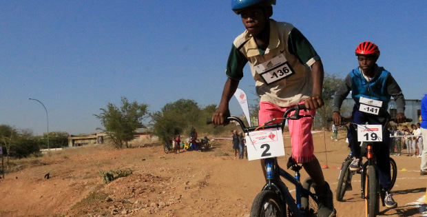
<instances>
[{"instance_id":1,"label":"red-helmeted boy's grey-sleeved arm on the picture's left","mask_svg":"<svg viewBox=\"0 0 427 217\"><path fill-rule=\"evenodd\" d=\"M340 90L335 93L333 96L333 104L332 104L332 119L335 125L341 126L342 116L340 114L340 109L342 102L346 99L348 93L351 91L351 76L348 74L346 79L344 79L344 83L341 84Z\"/></svg>"}]
</instances>

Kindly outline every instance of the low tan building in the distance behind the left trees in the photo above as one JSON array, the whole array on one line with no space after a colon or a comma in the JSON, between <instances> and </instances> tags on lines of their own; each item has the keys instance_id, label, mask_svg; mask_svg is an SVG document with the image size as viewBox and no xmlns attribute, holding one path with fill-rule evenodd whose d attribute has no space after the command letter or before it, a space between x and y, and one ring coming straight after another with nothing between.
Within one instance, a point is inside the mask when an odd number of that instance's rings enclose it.
<instances>
[{"instance_id":1,"label":"low tan building in the distance behind the left trees","mask_svg":"<svg viewBox=\"0 0 427 217\"><path fill-rule=\"evenodd\" d=\"M143 140L154 138L152 132L147 128L138 128L135 130L134 139ZM96 134L80 134L79 136L71 135L68 137L68 147L104 144L108 140L105 132L98 132Z\"/></svg>"}]
</instances>

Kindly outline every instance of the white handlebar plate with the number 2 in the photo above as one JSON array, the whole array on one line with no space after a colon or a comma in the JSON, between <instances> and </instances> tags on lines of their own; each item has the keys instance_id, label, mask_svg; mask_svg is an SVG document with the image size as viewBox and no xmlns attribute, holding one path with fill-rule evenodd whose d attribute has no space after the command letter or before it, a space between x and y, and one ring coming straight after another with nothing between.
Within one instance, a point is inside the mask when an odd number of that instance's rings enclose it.
<instances>
[{"instance_id":1,"label":"white handlebar plate with the number 2","mask_svg":"<svg viewBox=\"0 0 427 217\"><path fill-rule=\"evenodd\" d=\"M249 161L284 156L281 128L250 132L246 144Z\"/></svg>"}]
</instances>

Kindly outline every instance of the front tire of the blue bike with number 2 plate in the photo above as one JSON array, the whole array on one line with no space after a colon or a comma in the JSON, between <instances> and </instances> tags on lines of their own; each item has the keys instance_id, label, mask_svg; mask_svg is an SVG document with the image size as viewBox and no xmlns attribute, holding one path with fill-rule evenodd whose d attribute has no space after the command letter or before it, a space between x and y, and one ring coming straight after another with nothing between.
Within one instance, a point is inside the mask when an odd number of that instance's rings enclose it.
<instances>
[{"instance_id":1,"label":"front tire of the blue bike with number 2 plate","mask_svg":"<svg viewBox=\"0 0 427 217\"><path fill-rule=\"evenodd\" d=\"M284 207L284 209L282 210L281 207ZM271 190L262 191L253 199L250 216L286 217L286 204L280 200L278 193Z\"/></svg>"}]
</instances>

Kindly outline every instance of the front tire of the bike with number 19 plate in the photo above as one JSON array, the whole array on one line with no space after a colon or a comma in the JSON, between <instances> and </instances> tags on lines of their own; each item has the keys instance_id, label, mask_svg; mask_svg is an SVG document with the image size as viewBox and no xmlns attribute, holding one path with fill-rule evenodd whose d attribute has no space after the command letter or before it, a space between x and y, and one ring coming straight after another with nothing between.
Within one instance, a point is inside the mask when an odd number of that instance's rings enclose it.
<instances>
[{"instance_id":1,"label":"front tire of the bike with number 19 plate","mask_svg":"<svg viewBox=\"0 0 427 217\"><path fill-rule=\"evenodd\" d=\"M377 178L377 171L373 165L368 165L366 167L365 176L365 214L368 217L377 216L377 212L379 211L379 184Z\"/></svg>"}]
</instances>

